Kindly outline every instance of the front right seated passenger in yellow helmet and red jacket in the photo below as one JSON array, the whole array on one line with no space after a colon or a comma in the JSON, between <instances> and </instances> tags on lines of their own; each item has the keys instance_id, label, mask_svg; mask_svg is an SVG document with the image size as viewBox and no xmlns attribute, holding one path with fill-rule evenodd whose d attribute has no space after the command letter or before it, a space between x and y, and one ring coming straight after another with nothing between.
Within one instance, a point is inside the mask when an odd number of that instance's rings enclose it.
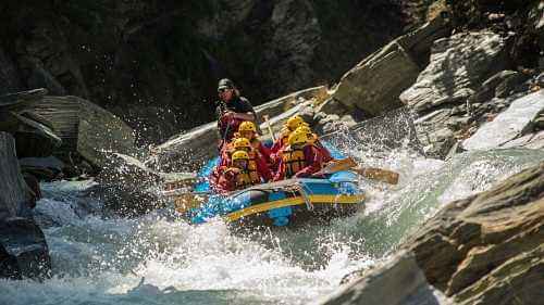
<instances>
[{"instance_id":1,"label":"front right seated passenger in yellow helmet and red jacket","mask_svg":"<svg viewBox=\"0 0 544 305\"><path fill-rule=\"evenodd\" d=\"M321 170L323 155L311 143L306 132L292 132L288 145L281 151L281 161L274 181L288 178L311 177Z\"/></svg>"}]
</instances>

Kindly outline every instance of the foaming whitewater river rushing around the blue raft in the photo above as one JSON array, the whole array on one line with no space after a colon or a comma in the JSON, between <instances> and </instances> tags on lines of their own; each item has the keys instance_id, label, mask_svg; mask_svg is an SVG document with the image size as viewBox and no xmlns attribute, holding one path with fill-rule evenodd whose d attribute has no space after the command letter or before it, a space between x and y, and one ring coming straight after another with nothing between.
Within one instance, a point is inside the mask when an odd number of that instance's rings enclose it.
<instances>
[{"instance_id":1,"label":"foaming whitewater river rushing around the blue raft","mask_svg":"<svg viewBox=\"0 0 544 305\"><path fill-rule=\"evenodd\" d=\"M44 183L36 213L53 277L0 280L0 304L306 304L383 259L444 203L485 190L544 152L465 153L442 162L392 152L399 186L361 180L366 208L326 227L232 234L221 221L189 226L169 209L135 219L89 214L91 182Z\"/></svg>"}]
</instances>

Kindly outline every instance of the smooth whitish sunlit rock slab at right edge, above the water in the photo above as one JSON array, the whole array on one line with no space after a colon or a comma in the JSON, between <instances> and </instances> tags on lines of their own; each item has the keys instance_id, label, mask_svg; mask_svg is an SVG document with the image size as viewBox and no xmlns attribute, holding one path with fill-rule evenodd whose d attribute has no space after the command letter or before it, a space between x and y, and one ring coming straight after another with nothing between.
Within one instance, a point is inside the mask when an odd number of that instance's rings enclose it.
<instances>
[{"instance_id":1,"label":"smooth whitish sunlit rock slab at right edge, above the water","mask_svg":"<svg viewBox=\"0 0 544 305\"><path fill-rule=\"evenodd\" d=\"M492 122L484 124L469 139L462 142L466 150L484 150L499 148L503 144L523 136L531 123L544 111L544 90L514 101Z\"/></svg>"}]
</instances>

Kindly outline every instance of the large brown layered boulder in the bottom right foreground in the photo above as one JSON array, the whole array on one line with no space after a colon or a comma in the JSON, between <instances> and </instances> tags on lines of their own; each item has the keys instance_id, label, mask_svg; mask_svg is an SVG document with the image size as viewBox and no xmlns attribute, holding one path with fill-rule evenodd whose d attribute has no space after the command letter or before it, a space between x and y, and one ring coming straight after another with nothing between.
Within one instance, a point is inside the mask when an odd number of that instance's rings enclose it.
<instances>
[{"instance_id":1,"label":"large brown layered boulder in the bottom right foreground","mask_svg":"<svg viewBox=\"0 0 544 305\"><path fill-rule=\"evenodd\" d=\"M326 304L448 304L437 297L444 294L453 304L541 304L543 226L541 163L445 205L393 260L364 272Z\"/></svg>"}]
</instances>

